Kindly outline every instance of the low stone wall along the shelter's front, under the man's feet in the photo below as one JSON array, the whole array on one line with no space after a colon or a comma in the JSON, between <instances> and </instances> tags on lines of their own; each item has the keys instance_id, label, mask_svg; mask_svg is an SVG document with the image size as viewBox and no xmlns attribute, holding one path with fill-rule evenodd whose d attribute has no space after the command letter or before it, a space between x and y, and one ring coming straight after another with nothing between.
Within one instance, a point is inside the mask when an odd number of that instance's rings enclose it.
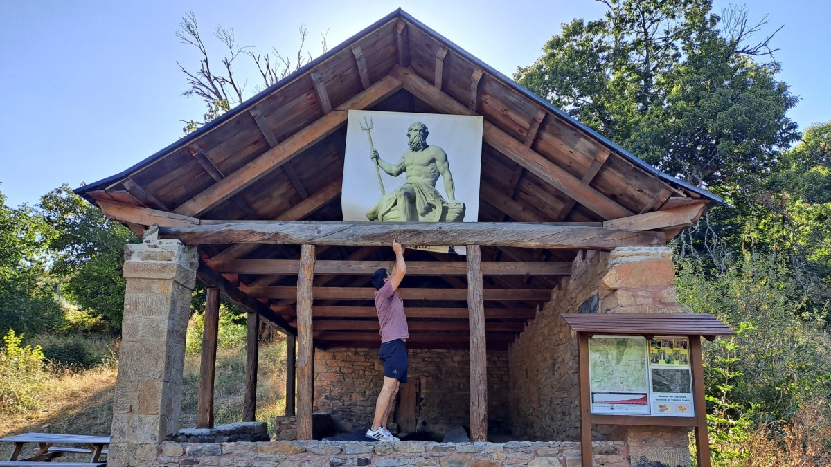
<instances>
[{"instance_id":1,"label":"low stone wall along the shelter's front, under the man's feet","mask_svg":"<svg viewBox=\"0 0 831 467\"><path fill-rule=\"evenodd\" d=\"M631 467L628 448L623 442L596 442L594 465ZM364 443L357 441L274 441L271 443L160 445L155 465L179 467L330 467L337 465L419 465L421 467L579 467L580 445L550 443Z\"/></svg>"}]
</instances>

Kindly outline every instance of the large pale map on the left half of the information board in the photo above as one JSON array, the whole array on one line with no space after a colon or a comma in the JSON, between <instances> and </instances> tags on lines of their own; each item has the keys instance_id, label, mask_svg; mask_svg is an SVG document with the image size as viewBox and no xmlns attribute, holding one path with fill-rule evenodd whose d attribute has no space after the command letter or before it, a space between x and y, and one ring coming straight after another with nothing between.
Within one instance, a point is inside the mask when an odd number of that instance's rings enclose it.
<instances>
[{"instance_id":1,"label":"large pale map on the left half of the information board","mask_svg":"<svg viewBox=\"0 0 831 467\"><path fill-rule=\"evenodd\" d=\"M647 392L647 346L643 337L592 337L588 340L589 381L593 392Z\"/></svg>"}]
</instances>

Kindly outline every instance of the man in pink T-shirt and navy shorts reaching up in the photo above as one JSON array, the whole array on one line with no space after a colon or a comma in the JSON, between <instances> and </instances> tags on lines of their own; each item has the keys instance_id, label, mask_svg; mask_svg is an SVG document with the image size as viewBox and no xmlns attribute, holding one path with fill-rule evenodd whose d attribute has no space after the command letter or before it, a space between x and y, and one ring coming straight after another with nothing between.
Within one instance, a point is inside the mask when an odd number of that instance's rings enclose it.
<instances>
[{"instance_id":1,"label":"man in pink T-shirt and navy shorts reaching up","mask_svg":"<svg viewBox=\"0 0 831 467\"><path fill-rule=\"evenodd\" d=\"M379 441L398 441L399 439L386 429L386 420L390 418L393 401L398 394L398 386L407 382L407 348L404 345L410 338L407 330L407 318L404 316L404 301L396 290L406 274L404 247L396 240L392 241L392 251L396 253L396 263L392 273L378 269L372 274L375 286L375 308L378 322L381 324L381 351L378 356L384 362L384 386L375 404L375 418L372 426L366 430L366 436Z\"/></svg>"}]
</instances>

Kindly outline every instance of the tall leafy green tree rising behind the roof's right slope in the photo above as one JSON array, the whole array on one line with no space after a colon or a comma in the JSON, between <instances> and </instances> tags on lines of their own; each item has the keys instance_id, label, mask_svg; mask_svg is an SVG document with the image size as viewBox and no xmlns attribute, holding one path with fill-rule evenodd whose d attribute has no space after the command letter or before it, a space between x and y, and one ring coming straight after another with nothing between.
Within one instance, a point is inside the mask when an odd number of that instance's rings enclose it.
<instances>
[{"instance_id":1,"label":"tall leafy green tree rising behind the roof's right slope","mask_svg":"<svg viewBox=\"0 0 831 467\"><path fill-rule=\"evenodd\" d=\"M691 184L723 193L748 183L797 137L785 116L797 98L755 62L771 37L747 12L722 19L710 0L608 0L591 22L575 19L515 79L627 150ZM733 185L735 188L735 185Z\"/></svg>"}]
</instances>

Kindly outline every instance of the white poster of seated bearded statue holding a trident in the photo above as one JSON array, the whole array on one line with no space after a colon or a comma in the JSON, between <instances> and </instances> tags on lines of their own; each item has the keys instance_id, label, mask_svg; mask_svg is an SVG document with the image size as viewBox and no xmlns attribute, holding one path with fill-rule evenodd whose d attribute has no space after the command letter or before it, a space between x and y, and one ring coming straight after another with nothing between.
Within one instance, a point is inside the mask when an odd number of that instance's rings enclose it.
<instances>
[{"instance_id":1,"label":"white poster of seated bearded statue holding a trident","mask_svg":"<svg viewBox=\"0 0 831 467\"><path fill-rule=\"evenodd\" d=\"M482 123L481 116L349 111L343 220L476 222Z\"/></svg>"}]
</instances>

